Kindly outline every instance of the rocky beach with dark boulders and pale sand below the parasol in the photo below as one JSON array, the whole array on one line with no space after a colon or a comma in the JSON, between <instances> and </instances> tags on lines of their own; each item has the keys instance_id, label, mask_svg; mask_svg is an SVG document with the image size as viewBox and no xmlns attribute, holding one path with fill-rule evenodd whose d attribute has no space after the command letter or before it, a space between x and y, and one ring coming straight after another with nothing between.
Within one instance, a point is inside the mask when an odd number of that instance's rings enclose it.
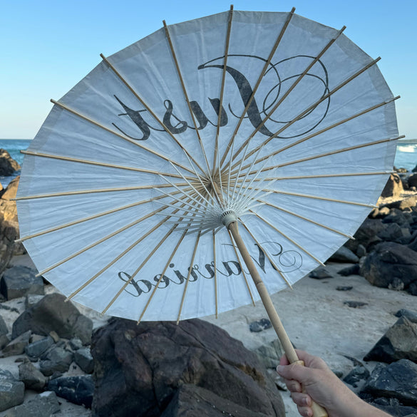
<instances>
[{"instance_id":1,"label":"rocky beach with dark boulders and pale sand below the parasol","mask_svg":"<svg viewBox=\"0 0 417 417\"><path fill-rule=\"evenodd\" d=\"M297 348L323 357L366 401L411 417L417 177L398 174L354 241L272 298ZM138 326L64 302L14 243L18 184L0 195L0 417L298 416L274 371L282 348L261 304Z\"/></svg>"}]
</instances>

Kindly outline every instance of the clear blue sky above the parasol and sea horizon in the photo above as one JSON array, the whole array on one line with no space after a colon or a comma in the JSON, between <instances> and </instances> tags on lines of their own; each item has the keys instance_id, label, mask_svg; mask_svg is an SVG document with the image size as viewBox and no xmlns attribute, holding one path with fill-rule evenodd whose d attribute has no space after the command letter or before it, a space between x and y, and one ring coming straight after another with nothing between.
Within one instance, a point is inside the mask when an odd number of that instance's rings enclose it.
<instances>
[{"instance_id":1,"label":"clear blue sky above the parasol and sea horizon","mask_svg":"<svg viewBox=\"0 0 417 417\"><path fill-rule=\"evenodd\" d=\"M101 58L160 29L230 9L223 0L5 1L0 16L0 138L36 135L61 98ZM394 95L398 128L417 138L416 0L236 0L236 10L289 11L341 29L379 68Z\"/></svg>"}]
</instances>

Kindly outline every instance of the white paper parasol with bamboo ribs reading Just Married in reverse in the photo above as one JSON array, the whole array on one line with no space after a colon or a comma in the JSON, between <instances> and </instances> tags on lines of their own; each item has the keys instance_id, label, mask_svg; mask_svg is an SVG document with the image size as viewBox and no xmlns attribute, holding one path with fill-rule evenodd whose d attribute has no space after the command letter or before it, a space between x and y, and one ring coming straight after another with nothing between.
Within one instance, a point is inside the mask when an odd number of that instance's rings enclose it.
<instances>
[{"instance_id":1,"label":"white paper parasol with bamboo ribs reading Just Married in reverse","mask_svg":"<svg viewBox=\"0 0 417 417\"><path fill-rule=\"evenodd\" d=\"M268 293L354 234L396 151L378 59L343 31L231 9L102 56L25 152L19 225L40 274L134 320L260 292L285 339Z\"/></svg>"}]
</instances>

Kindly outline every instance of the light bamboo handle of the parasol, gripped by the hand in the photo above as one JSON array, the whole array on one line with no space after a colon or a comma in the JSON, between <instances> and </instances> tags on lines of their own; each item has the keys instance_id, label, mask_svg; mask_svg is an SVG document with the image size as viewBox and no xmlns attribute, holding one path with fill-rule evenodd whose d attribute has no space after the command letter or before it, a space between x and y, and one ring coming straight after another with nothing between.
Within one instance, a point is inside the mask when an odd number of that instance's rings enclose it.
<instances>
[{"instance_id":1,"label":"light bamboo handle of the parasol, gripped by the hand","mask_svg":"<svg viewBox=\"0 0 417 417\"><path fill-rule=\"evenodd\" d=\"M235 240L237 245L237 249L239 249L240 254L242 254L244 263L246 264L247 269L249 269L249 273L252 279L254 280L254 284L257 287L257 291L259 292L259 295L262 299L262 303L264 304L264 307L267 310L267 314L269 316L269 319L271 320L272 326L274 326L274 329L277 332L278 339L282 344L282 348L284 349L288 361L291 364L296 363L304 366L304 362L299 360L294 346L292 346L287 332L285 331L284 326L282 326L281 319L279 319L277 310L275 309L274 304L272 304L272 299L271 297L269 297L269 293L267 292L267 287L265 287L265 284L262 281L262 278L260 277L259 272L257 271L257 268L254 265L252 257L249 255L247 247L244 244L242 237L240 236L239 230L237 228L237 222L231 222L227 228L232 233L233 239ZM326 410L323 407L319 406L319 404L313 403L312 409L314 417L327 417Z\"/></svg>"}]
</instances>

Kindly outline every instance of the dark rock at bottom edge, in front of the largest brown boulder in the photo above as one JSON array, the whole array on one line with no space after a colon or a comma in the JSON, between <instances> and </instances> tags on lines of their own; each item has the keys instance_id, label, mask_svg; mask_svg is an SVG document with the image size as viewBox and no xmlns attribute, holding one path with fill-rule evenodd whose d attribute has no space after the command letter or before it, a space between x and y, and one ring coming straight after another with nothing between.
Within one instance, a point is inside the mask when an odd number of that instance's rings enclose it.
<instances>
[{"instance_id":1,"label":"dark rock at bottom edge, in front of the largest brown boulder","mask_svg":"<svg viewBox=\"0 0 417 417\"><path fill-rule=\"evenodd\" d=\"M160 417L268 417L267 414L248 410L200 386L184 384Z\"/></svg>"}]
</instances>

